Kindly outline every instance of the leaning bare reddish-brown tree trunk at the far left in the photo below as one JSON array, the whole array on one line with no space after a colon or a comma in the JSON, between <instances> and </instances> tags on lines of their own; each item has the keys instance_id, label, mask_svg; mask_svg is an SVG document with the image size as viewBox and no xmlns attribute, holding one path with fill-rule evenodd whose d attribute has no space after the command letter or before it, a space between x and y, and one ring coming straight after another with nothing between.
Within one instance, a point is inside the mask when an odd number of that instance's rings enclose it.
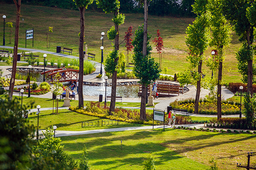
<instances>
[{"instance_id":1,"label":"leaning bare reddish-brown tree trunk at the far left","mask_svg":"<svg viewBox=\"0 0 256 170\"><path fill-rule=\"evenodd\" d=\"M10 88L9 88L9 98L11 100L12 100L12 94L13 94L14 83L15 83L15 76L16 76L16 67L17 67L21 0L18 0L18 3L16 2L16 0L14 0L14 4L16 5L17 13L16 13L16 27L15 27L14 48L13 48L12 77L11 77L11 80L10 80Z\"/></svg>"}]
</instances>

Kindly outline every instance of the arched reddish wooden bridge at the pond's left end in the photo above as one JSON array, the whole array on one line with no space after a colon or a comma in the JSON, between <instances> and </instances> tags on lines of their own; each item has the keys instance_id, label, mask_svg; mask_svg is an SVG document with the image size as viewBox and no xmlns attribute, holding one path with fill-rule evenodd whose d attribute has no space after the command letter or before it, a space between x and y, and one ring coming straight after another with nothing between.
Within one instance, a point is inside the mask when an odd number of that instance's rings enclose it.
<instances>
[{"instance_id":1,"label":"arched reddish wooden bridge at the pond's left end","mask_svg":"<svg viewBox=\"0 0 256 170\"><path fill-rule=\"evenodd\" d=\"M45 79L50 82L75 81L78 80L78 72L79 70L74 70L71 68L66 68L66 70L62 70L62 68L47 70L45 71ZM41 72L40 74L44 74L44 72Z\"/></svg>"}]
</instances>

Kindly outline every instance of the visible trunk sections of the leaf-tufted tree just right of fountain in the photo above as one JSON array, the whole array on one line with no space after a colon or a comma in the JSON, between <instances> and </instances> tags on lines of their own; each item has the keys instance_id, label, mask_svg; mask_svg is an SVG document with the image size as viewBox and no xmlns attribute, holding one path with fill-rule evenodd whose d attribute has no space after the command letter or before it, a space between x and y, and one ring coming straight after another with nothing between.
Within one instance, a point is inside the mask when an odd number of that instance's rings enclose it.
<instances>
[{"instance_id":1,"label":"visible trunk sections of the leaf-tufted tree just right of fountain","mask_svg":"<svg viewBox=\"0 0 256 170\"><path fill-rule=\"evenodd\" d=\"M115 16L118 15L118 9L115 11ZM114 24L115 30L117 32L115 37L115 51L119 50L119 30L118 30L118 24ZM114 63L118 63L119 57L117 57L114 60ZM109 107L109 115L112 115L115 111L116 107L116 77L117 77L117 71L114 71L112 74L112 87L111 87L111 100L110 100L110 107Z\"/></svg>"}]
</instances>

